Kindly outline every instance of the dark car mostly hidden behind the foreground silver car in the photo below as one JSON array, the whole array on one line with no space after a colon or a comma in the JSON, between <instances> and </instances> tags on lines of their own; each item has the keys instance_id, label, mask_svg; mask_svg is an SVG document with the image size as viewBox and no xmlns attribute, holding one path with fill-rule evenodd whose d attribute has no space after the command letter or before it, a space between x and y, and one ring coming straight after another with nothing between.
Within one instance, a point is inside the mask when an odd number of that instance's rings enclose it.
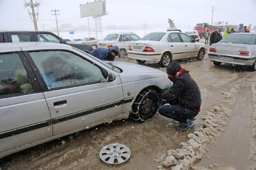
<instances>
[{"instance_id":1,"label":"dark car mostly hidden behind the foreground silver car","mask_svg":"<svg viewBox=\"0 0 256 170\"><path fill-rule=\"evenodd\" d=\"M83 52L93 50L92 45L67 43L56 34L49 31L3 31L0 32L0 43L19 43L28 41L52 42L74 46Z\"/></svg>"}]
</instances>

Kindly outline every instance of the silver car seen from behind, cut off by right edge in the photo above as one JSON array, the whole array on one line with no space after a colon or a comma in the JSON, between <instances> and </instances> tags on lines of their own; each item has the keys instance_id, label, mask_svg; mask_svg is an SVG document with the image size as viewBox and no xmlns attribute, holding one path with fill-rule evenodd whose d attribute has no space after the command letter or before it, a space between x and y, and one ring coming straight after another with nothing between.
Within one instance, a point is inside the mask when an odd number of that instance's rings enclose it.
<instances>
[{"instance_id":1,"label":"silver car seen from behind, cut off by right edge","mask_svg":"<svg viewBox=\"0 0 256 170\"><path fill-rule=\"evenodd\" d=\"M256 33L232 33L211 45L209 59L216 66L221 62L249 66L256 71Z\"/></svg>"}]
</instances>

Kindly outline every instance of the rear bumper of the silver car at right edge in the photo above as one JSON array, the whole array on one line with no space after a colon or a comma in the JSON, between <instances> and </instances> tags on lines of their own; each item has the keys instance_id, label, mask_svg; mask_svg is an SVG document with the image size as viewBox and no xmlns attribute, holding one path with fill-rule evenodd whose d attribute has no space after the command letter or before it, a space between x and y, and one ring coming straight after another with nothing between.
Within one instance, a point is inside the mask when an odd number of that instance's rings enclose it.
<instances>
[{"instance_id":1,"label":"rear bumper of the silver car at right edge","mask_svg":"<svg viewBox=\"0 0 256 170\"><path fill-rule=\"evenodd\" d=\"M252 66L255 62L256 57L234 57L228 55L217 55L208 53L209 59L218 62L225 62L229 64L237 64L243 66Z\"/></svg>"}]
</instances>

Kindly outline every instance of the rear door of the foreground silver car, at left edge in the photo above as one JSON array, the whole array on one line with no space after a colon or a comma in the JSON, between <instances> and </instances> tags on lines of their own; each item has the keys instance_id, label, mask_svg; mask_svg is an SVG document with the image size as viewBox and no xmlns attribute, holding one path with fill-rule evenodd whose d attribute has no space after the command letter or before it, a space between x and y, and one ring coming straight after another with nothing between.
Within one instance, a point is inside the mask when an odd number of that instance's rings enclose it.
<instances>
[{"instance_id":1,"label":"rear door of the foreground silver car, at left edge","mask_svg":"<svg viewBox=\"0 0 256 170\"><path fill-rule=\"evenodd\" d=\"M51 116L40 90L21 52L0 53L0 157L52 136Z\"/></svg>"}]
</instances>

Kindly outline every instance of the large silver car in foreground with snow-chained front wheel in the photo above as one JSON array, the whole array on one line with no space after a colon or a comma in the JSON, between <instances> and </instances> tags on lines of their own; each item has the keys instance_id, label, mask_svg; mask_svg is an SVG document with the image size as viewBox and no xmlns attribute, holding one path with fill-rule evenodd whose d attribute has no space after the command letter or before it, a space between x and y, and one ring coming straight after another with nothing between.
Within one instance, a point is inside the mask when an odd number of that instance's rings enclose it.
<instances>
[{"instance_id":1,"label":"large silver car in foreground with snow-chained front wheel","mask_svg":"<svg viewBox=\"0 0 256 170\"><path fill-rule=\"evenodd\" d=\"M163 71L57 43L0 44L0 158L104 122L147 121Z\"/></svg>"}]
</instances>

